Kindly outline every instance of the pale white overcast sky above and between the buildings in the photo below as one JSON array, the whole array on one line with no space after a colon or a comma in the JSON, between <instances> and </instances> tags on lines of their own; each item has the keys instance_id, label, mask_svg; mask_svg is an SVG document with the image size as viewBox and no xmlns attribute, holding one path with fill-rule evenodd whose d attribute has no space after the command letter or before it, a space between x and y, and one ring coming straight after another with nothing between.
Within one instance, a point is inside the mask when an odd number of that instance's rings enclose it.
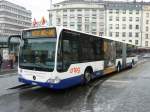
<instances>
[{"instance_id":1,"label":"pale white overcast sky above and between the buildings","mask_svg":"<svg viewBox=\"0 0 150 112\"><path fill-rule=\"evenodd\" d=\"M32 20L35 18L37 21L40 21L42 16L44 16L48 20L48 9L50 7L50 0L7 0L7 1L21 5L25 7L27 10L31 10ZM52 3L57 3L61 1L64 0L52 0ZM110 0L110 1L122 1L122 0ZM150 0L143 0L143 1L150 2Z\"/></svg>"}]
</instances>

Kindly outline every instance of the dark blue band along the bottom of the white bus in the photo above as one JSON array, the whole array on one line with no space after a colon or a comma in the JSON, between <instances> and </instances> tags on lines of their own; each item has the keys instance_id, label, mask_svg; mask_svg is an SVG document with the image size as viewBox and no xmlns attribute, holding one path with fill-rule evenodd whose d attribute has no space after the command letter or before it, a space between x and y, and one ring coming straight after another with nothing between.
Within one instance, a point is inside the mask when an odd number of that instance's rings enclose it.
<instances>
[{"instance_id":1,"label":"dark blue band along the bottom of the white bus","mask_svg":"<svg viewBox=\"0 0 150 112\"><path fill-rule=\"evenodd\" d=\"M102 71L94 72L94 78L100 77L102 75L103 75ZM25 84L31 84L31 85L36 84L38 86L52 88L52 89L65 89L65 88L69 88L69 87L81 84L84 81L83 75L63 79L60 81L60 83L57 83L57 84L48 83L48 82L31 81L31 80L24 79L22 77L19 77L18 80L19 80L19 82L22 82Z\"/></svg>"}]
</instances>

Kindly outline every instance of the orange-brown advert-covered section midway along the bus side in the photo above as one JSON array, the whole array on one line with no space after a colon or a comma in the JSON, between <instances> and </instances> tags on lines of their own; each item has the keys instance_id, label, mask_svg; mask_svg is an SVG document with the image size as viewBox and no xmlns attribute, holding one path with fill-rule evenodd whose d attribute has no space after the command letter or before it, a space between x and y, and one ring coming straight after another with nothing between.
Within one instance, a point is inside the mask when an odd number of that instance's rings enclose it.
<instances>
[{"instance_id":1,"label":"orange-brown advert-covered section midway along the bus side","mask_svg":"<svg viewBox=\"0 0 150 112\"><path fill-rule=\"evenodd\" d=\"M104 74L111 73L116 70L116 48L115 42L104 40Z\"/></svg>"}]
</instances>

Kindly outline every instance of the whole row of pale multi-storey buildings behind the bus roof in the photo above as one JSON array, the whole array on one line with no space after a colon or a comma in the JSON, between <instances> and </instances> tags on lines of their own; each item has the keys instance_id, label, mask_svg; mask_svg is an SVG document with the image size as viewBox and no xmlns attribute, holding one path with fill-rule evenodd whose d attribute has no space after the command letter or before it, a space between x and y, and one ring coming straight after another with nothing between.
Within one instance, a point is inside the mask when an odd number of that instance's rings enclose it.
<instances>
[{"instance_id":1,"label":"whole row of pale multi-storey buildings behind the bus roof","mask_svg":"<svg viewBox=\"0 0 150 112\"><path fill-rule=\"evenodd\" d=\"M67 0L54 4L52 25L150 47L150 3Z\"/></svg>"}]
</instances>

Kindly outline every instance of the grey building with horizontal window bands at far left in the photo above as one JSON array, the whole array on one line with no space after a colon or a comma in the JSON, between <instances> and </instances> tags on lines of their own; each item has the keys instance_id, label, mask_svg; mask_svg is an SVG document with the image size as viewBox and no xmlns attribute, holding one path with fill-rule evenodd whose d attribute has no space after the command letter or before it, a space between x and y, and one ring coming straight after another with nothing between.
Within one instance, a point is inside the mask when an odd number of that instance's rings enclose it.
<instances>
[{"instance_id":1,"label":"grey building with horizontal window bands at far left","mask_svg":"<svg viewBox=\"0 0 150 112\"><path fill-rule=\"evenodd\" d=\"M20 34L20 30L31 26L31 11L24 7L0 0L0 36Z\"/></svg>"}]
</instances>

